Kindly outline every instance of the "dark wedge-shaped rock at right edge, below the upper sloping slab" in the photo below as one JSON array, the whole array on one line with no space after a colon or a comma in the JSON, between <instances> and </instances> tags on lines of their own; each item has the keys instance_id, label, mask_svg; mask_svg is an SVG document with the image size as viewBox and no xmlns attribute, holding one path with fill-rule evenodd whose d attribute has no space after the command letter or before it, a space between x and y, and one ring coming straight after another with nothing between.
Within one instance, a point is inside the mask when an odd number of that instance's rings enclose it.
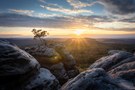
<instances>
[{"instance_id":1,"label":"dark wedge-shaped rock at right edge, below the upper sloping slab","mask_svg":"<svg viewBox=\"0 0 135 90\"><path fill-rule=\"evenodd\" d=\"M122 78L135 83L135 59L133 62L124 63L108 72L113 78Z\"/></svg>"}]
</instances>

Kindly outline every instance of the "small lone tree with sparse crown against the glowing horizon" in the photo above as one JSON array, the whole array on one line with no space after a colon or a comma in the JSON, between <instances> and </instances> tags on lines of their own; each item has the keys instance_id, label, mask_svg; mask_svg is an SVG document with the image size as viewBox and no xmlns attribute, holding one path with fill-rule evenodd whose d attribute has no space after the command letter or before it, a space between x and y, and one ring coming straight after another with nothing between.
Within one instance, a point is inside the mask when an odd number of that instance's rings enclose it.
<instances>
[{"instance_id":1,"label":"small lone tree with sparse crown against the glowing horizon","mask_svg":"<svg viewBox=\"0 0 135 90\"><path fill-rule=\"evenodd\" d=\"M44 37L49 35L47 31L44 31L42 29L33 29L31 32L34 34L34 39L39 39L42 44L44 44L45 46L47 45L47 42L44 39Z\"/></svg>"}]
</instances>

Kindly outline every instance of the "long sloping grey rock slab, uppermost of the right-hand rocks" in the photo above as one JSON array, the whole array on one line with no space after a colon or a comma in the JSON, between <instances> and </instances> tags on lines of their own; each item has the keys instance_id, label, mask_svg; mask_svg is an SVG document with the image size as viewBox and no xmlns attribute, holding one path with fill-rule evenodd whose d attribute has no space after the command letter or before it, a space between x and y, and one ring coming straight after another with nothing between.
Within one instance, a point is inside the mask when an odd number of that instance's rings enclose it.
<instances>
[{"instance_id":1,"label":"long sloping grey rock slab, uppermost of the right-hand rocks","mask_svg":"<svg viewBox=\"0 0 135 90\"><path fill-rule=\"evenodd\" d=\"M93 63L89 68L103 68L106 71L109 71L114 65L117 65L124 59L132 56L132 53L120 51L118 53L114 53L113 55L102 57L101 59Z\"/></svg>"}]
</instances>

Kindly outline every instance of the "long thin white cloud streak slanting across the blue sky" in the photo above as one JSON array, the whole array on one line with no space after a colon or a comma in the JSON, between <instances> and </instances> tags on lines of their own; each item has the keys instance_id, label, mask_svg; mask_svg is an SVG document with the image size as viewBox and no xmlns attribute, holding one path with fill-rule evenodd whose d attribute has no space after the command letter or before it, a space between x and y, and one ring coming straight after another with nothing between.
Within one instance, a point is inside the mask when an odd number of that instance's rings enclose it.
<instances>
[{"instance_id":1,"label":"long thin white cloud streak slanting across the blue sky","mask_svg":"<svg viewBox=\"0 0 135 90\"><path fill-rule=\"evenodd\" d=\"M46 9L46 10L49 10L49 11L54 11L54 12L60 12L60 13L64 13L64 14L80 14L80 13L93 13L92 11L90 10L85 10L85 9L78 9L78 10L75 10L75 9L67 9L67 8L64 8L64 7L61 7L57 4L51 4L51 5L40 5L40 7Z\"/></svg>"}]
</instances>

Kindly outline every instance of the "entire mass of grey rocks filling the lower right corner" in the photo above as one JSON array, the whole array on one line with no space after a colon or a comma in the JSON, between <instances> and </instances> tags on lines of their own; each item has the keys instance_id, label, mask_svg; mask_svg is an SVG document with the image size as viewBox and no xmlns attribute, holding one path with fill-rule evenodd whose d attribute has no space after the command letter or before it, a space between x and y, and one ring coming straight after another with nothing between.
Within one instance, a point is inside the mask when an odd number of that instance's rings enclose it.
<instances>
[{"instance_id":1,"label":"entire mass of grey rocks filling the lower right corner","mask_svg":"<svg viewBox=\"0 0 135 90\"><path fill-rule=\"evenodd\" d=\"M135 90L135 56L111 50L87 71L65 83L61 90Z\"/></svg>"}]
</instances>

